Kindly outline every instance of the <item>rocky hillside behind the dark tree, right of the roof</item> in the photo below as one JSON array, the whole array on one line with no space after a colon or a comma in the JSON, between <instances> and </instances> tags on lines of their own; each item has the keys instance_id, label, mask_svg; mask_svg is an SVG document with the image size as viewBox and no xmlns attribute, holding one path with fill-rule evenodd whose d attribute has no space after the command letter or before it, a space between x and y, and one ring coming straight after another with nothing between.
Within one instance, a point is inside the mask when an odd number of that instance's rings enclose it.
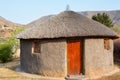
<instances>
[{"instance_id":1,"label":"rocky hillside behind the dark tree, right of the roof","mask_svg":"<svg viewBox=\"0 0 120 80\"><path fill-rule=\"evenodd\" d=\"M79 12L83 14L84 16L87 16L88 18L91 18L93 15L97 13L107 13L110 18L112 19L115 26L120 26L120 10L113 10L113 11L85 11L85 12Z\"/></svg>"}]
</instances>

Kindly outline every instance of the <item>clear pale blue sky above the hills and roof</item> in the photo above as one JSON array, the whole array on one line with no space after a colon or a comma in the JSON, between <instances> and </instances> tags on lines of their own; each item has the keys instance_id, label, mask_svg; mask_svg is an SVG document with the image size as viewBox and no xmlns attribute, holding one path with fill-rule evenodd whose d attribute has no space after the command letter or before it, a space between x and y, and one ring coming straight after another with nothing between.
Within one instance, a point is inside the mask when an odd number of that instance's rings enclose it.
<instances>
[{"instance_id":1,"label":"clear pale blue sky above the hills and roof","mask_svg":"<svg viewBox=\"0 0 120 80\"><path fill-rule=\"evenodd\" d=\"M65 11L67 5L73 11L120 10L120 0L0 0L0 16L28 24L42 16Z\"/></svg>"}]
</instances>

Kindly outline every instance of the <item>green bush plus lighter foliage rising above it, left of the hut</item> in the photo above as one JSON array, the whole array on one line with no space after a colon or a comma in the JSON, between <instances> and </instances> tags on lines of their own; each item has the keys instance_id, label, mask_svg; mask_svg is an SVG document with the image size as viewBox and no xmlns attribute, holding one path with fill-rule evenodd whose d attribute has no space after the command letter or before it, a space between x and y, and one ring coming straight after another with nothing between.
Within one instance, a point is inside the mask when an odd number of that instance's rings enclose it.
<instances>
[{"instance_id":1,"label":"green bush plus lighter foliage rising above it, left of the hut","mask_svg":"<svg viewBox=\"0 0 120 80\"><path fill-rule=\"evenodd\" d=\"M19 41L16 39L16 34L23 31L25 28L16 28L12 36L8 40L0 40L0 61L5 63L13 59L13 54L19 47Z\"/></svg>"}]
</instances>

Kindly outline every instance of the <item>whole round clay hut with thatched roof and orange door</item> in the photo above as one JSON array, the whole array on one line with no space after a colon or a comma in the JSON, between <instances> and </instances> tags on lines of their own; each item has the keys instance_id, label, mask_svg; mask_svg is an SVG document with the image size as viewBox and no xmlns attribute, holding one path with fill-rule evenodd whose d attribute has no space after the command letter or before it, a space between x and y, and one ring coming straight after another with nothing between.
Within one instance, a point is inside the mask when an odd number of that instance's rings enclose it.
<instances>
[{"instance_id":1,"label":"whole round clay hut with thatched roof and orange door","mask_svg":"<svg viewBox=\"0 0 120 80\"><path fill-rule=\"evenodd\" d=\"M64 11L17 35L21 70L66 77L100 76L113 70L117 34L74 11Z\"/></svg>"}]
</instances>

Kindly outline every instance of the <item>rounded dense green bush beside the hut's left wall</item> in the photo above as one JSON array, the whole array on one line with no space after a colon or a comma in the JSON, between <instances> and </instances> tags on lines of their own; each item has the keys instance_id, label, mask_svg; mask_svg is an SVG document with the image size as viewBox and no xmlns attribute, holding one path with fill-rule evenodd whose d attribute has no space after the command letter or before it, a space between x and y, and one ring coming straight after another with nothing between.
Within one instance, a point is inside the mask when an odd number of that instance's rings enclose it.
<instances>
[{"instance_id":1,"label":"rounded dense green bush beside the hut's left wall","mask_svg":"<svg viewBox=\"0 0 120 80\"><path fill-rule=\"evenodd\" d=\"M17 49L18 40L16 38L11 37L7 41L3 41L0 44L0 61L3 63L11 61Z\"/></svg>"}]
</instances>

